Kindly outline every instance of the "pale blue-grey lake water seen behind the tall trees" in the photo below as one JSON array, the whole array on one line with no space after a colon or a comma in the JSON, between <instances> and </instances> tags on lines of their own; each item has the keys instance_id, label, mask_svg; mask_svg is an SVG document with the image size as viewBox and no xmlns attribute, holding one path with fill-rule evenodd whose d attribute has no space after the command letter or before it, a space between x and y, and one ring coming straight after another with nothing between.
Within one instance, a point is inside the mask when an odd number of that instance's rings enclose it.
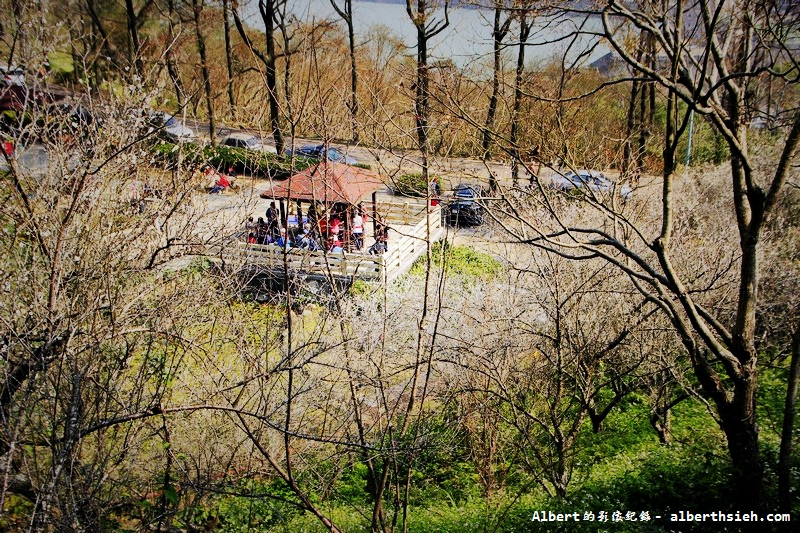
<instances>
[{"instance_id":1,"label":"pale blue-grey lake water seen behind the tall trees","mask_svg":"<svg viewBox=\"0 0 800 533\"><path fill-rule=\"evenodd\" d=\"M340 20L334 11L329 0L288 0L290 10L301 20ZM261 28L260 14L258 13L257 0L247 0L242 2L242 16L248 25L254 28ZM492 53L492 21L493 11L484 9L474 9L466 7L456 7L450 9L450 25L441 34L432 40L430 47L430 58L452 59L461 67L469 65L485 65L491 61ZM443 12L436 13L436 20L443 18ZM559 38L573 31L582 21L569 18L555 20L553 18L540 17L537 20L536 28L529 43L526 56L530 62L547 61L555 56L562 55L567 49L566 41L557 42ZM344 22L340 21L342 27ZM588 21L589 27L597 29L599 21ZM354 0L353 2L353 26L356 32L357 42L363 42L367 37L370 28L375 26L385 26L388 30L400 39L409 49L408 53L415 53L416 28L411 23L406 13L405 4L365 2ZM506 39L507 44L516 42L514 37L518 30L512 29ZM538 44L537 44L538 43ZM591 46L591 42L584 38L579 47L573 47L572 54L577 54L577 49ZM608 48L599 46L587 56L584 62L591 62L608 52ZM509 57L515 57L516 49L509 50Z\"/></svg>"}]
</instances>

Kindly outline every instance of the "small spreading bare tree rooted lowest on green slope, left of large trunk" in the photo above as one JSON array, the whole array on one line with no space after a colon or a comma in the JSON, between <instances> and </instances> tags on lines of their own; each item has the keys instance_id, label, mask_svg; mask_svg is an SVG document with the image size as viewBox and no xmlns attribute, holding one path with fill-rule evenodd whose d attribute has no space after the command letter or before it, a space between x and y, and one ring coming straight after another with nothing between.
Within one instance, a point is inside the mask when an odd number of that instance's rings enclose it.
<instances>
[{"instance_id":1,"label":"small spreading bare tree rooted lowest on green slope, left of large trunk","mask_svg":"<svg viewBox=\"0 0 800 533\"><path fill-rule=\"evenodd\" d=\"M521 311L513 318L492 313L507 321L492 336L514 340L494 342L496 351L471 371L487 383L498 415L514 430L506 446L517 448L518 460L545 491L563 498L585 446L584 425L600 432L635 386L647 359L635 337L653 312L630 299L621 276L601 262L571 265L548 253L526 261L525 255L516 255L524 270L515 283L531 296L517 302ZM467 390L480 391L478 383Z\"/></svg>"}]
</instances>

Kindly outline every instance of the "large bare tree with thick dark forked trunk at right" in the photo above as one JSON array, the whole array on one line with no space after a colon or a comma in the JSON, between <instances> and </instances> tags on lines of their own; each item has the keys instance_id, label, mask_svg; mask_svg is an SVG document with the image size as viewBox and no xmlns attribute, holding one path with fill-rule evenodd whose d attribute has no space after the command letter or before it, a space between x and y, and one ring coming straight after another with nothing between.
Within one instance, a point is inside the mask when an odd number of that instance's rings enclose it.
<instances>
[{"instance_id":1,"label":"large bare tree with thick dark forked trunk at right","mask_svg":"<svg viewBox=\"0 0 800 533\"><path fill-rule=\"evenodd\" d=\"M625 272L646 298L658 303L678 333L703 393L716 408L727 436L740 503L764 511L767 501L755 410L760 242L797 155L800 117L792 111L796 106L785 102L785 111L779 115L783 124L779 155L771 165L756 164L747 142L748 110L757 106L750 87L767 73L786 87L797 83L797 64L779 37L794 27L796 17L793 8L772 2L758 6L699 2L691 9L678 2L655 11L649 3L648 9L640 7L609 2L591 13L602 17L604 38L616 54L642 82L657 84L666 99L658 228L648 228L630 216L614 194L592 191L580 196L598 209L604 221L570 221L541 181L542 205L550 216L546 221L515 216L517 226L509 229L523 242L567 257L604 258ZM638 61L621 42L622 30L628 27L656 40L662 58L658 68ZM762 31L765 28L769 30ZM674 242L684 216L676 196L676 152L688 127L686 107L713 123L731 154L730 185L724 192L730 195L733 209L718 213L730 215L738 235L734 281L738 293L730 313L704 299L709 293L693 274L691 257ZM561 157L571 163L574 159L564 150ZM514 214L515 208L510 209ZM726 264L718 263L717 270L728 268Z\"/></svg>"}]
</instances>

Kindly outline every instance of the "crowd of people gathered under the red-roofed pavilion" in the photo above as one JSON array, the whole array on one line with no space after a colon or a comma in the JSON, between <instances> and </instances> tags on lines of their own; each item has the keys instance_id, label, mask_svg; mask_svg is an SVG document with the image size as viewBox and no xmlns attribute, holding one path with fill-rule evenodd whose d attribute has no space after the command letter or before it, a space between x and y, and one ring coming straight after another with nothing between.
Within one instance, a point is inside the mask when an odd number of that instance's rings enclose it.
<instances>
[{"instance_id":1,"label":"crowd of people gathered under the red-roofed pavilion","mask_svg":"<svg viewBox=\"0 0 800 533\"><path fill-rule=\"evenodd\" d=\"M361 251L364 248L364 228L367 215L361 206L352 210L347 218L347 209L334 206L328 216L317 216L315 209L309 209L308 221L298 221L299 227L283 227L275 202L270 202L265 217L247 222L247 242L251 244L275 244L281 248L301 248L309 251L327 249L330 252ZM389 248L389 227L378 223L375 243L369 248L370 254L381 254Z\"/></svg>"}]
</instances>

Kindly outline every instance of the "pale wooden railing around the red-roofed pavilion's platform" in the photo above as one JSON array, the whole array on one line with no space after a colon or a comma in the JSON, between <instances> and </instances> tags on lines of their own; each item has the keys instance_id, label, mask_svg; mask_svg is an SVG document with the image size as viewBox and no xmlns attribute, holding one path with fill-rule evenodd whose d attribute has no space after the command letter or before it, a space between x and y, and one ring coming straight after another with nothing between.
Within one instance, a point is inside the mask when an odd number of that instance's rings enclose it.
<instances>
[{"instance_id":1,"label":"pale wooden railing around the red-roofed pavilion's platform","mask_svg":"<svg viewBox=\"0 0 800 533\"><path fill-rule=\"evenodd\" d=\"M444 234L439 206L427 207L418 202L382 203L378 212L391 229L389 251L382 255L366 253L372 245L365 238L364 252L311 252L299 248L283 250L273 244L247 244L233 240L222 251L225 263L237 270L266 274L282 279L391 281L405 274L425 253L426 243L436 242ZM367 224L369 228L371 224Z\"/></svg>"}]
</instances>

